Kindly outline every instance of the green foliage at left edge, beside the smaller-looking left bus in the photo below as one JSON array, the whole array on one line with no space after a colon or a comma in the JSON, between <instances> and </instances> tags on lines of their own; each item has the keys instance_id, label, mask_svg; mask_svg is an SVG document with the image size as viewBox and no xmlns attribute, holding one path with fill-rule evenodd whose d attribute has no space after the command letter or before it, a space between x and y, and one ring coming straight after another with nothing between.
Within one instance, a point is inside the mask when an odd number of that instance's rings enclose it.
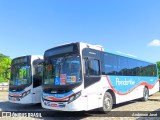
<instances>
[{"instance_id":1,"label":"green foliage at left edge, beside the smaller-looking left bus","mask_svg":"<svg viewBox=\"0 0 160 120\"><path fill-rule=\"evenodd\" d=\"M0 82L7 82L6 78L10 77L10 71L7 73L7 69L11 66L11 58L6 55L0 54Z\"/></svg>"}]
</instances>

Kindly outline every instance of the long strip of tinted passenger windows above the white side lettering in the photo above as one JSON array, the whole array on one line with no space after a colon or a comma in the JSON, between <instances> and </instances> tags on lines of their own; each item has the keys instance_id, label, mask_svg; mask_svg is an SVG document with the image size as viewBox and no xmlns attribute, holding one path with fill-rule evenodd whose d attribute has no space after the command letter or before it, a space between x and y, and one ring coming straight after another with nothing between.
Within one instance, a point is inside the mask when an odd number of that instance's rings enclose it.
<instances>
[{"instance_id":1,"label":"long strip of tinted passenger windows above the white side lettering","mask_svg":"<svg viewBox=\"0 0 160 120\"><path fill-rule=\"evenodd\" d=\"M123 76L156 76L155 64L148 62L104 53L103 74Z\"/></svg>"}]
</instances>

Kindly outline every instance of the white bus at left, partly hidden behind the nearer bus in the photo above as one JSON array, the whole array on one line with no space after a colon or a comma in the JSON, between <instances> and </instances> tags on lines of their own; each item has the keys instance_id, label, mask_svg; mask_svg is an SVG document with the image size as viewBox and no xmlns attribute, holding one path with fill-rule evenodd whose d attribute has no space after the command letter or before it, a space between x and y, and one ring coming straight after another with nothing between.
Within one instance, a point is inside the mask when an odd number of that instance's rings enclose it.
<instances>
[{"instance_id":1,"label":"white bus at left, partly hidden behind the nearer bus","mask_svg":"<svg viewBox=\"0 0 160 120\"><path fill-rule=\"evenodd\" d=\"M9 80L9 102L36 104L41 102L43 56L17 57L11 63Z\"/></svg>"}]
</instances>

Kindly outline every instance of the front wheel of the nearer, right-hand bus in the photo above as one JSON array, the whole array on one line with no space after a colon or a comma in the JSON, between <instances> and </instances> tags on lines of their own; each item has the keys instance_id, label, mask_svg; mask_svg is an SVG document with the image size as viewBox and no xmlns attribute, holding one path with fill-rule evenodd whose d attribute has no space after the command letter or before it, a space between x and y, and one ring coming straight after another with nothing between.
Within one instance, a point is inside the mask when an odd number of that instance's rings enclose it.
<instances>
[{"instance_id":1,"label":"front wheel of the nearer, right-hand bus","mask_svg":"<svg viewBox=\"0 0 160 120\"><path fill-rule=\"evenodd\" d=\"M104 113L108 113L109 111L111 111L112 106L113 106L112 95L109 92L106 92L104 94L103 107L101 108L101 111Z\"/></svg>"}]
</instances>

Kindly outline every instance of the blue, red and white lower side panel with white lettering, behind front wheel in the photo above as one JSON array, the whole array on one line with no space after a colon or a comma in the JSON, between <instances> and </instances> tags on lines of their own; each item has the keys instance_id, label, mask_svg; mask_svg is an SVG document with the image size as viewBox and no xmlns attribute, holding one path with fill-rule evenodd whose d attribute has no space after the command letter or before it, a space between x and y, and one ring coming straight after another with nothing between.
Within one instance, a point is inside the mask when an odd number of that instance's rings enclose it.
<instances>
[{"instance_id":1,"label":"blue, red and white lower side panel with white lettering, behind front wheel","mask_svg":"<svg viewBox=\"0 0 160 120\"><path fill-rule=\"evenodd\" d=\"M111 88L115 93L116 104L143 97L145 86L150 95L159 89L157 77L106 76L106 81L107 89Z\"/></svg>"}]
</instances>

